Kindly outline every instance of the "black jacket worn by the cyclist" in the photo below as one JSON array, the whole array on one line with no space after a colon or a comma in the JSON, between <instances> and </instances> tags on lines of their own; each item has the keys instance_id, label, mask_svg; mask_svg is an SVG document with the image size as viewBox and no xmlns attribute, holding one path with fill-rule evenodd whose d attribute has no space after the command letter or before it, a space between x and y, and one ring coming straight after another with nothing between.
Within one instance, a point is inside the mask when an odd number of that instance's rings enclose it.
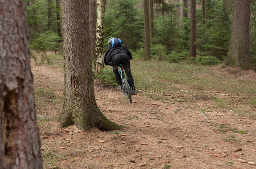
<instances>
[{"instance_id":1,"label":"black jacket worn by the cyclist","mask_svg":"<svg viewBox=\"0 0 256 169\"><path fill-rule=\"evenodd\" d=\"M122 45L120 47L111 48L111 45L109 44L107 46L107 52L104 55L104 63L105 65L111 65L111 59L112 55L115 55L117 53L127 53L129 56L129 59L132 59L131 52L125 47L125 45Z\"/></svg>"}]
</instances>

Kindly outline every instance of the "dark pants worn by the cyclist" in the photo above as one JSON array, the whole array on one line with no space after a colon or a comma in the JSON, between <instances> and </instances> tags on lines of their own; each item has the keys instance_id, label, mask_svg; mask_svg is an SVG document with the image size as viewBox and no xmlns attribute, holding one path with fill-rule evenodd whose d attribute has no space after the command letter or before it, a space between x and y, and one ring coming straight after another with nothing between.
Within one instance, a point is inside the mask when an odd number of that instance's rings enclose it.
<instances>
[{"instance_id":1,"label":"dark pants worn by the cyclist","mask_svg":"<svg viewBox=\"0 0 256 169\"><path fill-rule=\"evenodd\" d=\"M122 64L123 68L125 69L129 86L131 87L132 90L134 90L135 86L133 82L133 76L131 74L130 60L127 53L117 53L115 55L112 55L113 72L115 75L115 80L118 83L118 85L122 85L122 79L118 73L118 66L120 64Z\"/></svg>"}]
</instances>

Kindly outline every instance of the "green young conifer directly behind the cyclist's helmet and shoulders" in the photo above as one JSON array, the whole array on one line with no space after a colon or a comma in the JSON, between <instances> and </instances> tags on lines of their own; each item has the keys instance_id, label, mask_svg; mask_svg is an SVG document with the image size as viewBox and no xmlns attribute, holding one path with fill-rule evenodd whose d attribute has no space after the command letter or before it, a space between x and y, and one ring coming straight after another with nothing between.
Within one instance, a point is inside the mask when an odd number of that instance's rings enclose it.
<instances>
[{"instance_id":1,"label":"green young conifer directly behind the cyclist's helmet and shoulders","mask_svg":"<svg viewBox=\"0 0 256 169\"><path fill-rule=\"evenodd\" d=\"M136 0L109 1L106 6L104 22L105 46L111 36L123 40L129 49L138 49L143 38L144 20L136 5Z\"/></svg>"}]
</instances>

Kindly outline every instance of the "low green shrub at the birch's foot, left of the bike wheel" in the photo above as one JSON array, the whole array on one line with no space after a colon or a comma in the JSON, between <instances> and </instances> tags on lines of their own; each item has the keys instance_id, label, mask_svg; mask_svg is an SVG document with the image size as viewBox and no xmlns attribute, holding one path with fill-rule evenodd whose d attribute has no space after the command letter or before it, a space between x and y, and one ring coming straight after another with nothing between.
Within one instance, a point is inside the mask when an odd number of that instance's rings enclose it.
<instances>
[{"instance_id":1,"label":"low green shrub at the birch's foot, left of the bike wheel","mask_svg":"<svg viewBox=\"0 0 256 169\"><path fill-rule=\"evenodd\" d=\"M102 86L116 86L115 75L111 69L102 69L101 72L95 75L100 80Z\"/></svg>"}]
</instances>

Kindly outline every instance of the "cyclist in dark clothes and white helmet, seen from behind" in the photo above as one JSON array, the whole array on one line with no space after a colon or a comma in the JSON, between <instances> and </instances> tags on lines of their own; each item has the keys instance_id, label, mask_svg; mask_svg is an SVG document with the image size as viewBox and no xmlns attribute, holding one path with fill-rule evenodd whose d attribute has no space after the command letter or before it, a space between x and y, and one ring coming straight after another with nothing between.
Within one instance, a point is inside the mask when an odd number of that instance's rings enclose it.
<instances>
[{"instance_id":1,"label":"cyclist in dark clothes and white helmet, seen from behind","mask_svg":"<svg viewBox=\"0 0 256 169\"><path fill-rule=\"evenodd\" d=\"M132 59L131 52L122 44L122 40L111 37L108 40L107 52L104 55L105 65L113 67L115 80L118 83L118 90L122 89L122 79L118 73L118 66L123 65L127 76L127 81L131 87L132 95L137 94L134 86L133 76L131 74L130 60Z\"/></svg>"}]
</instances>

